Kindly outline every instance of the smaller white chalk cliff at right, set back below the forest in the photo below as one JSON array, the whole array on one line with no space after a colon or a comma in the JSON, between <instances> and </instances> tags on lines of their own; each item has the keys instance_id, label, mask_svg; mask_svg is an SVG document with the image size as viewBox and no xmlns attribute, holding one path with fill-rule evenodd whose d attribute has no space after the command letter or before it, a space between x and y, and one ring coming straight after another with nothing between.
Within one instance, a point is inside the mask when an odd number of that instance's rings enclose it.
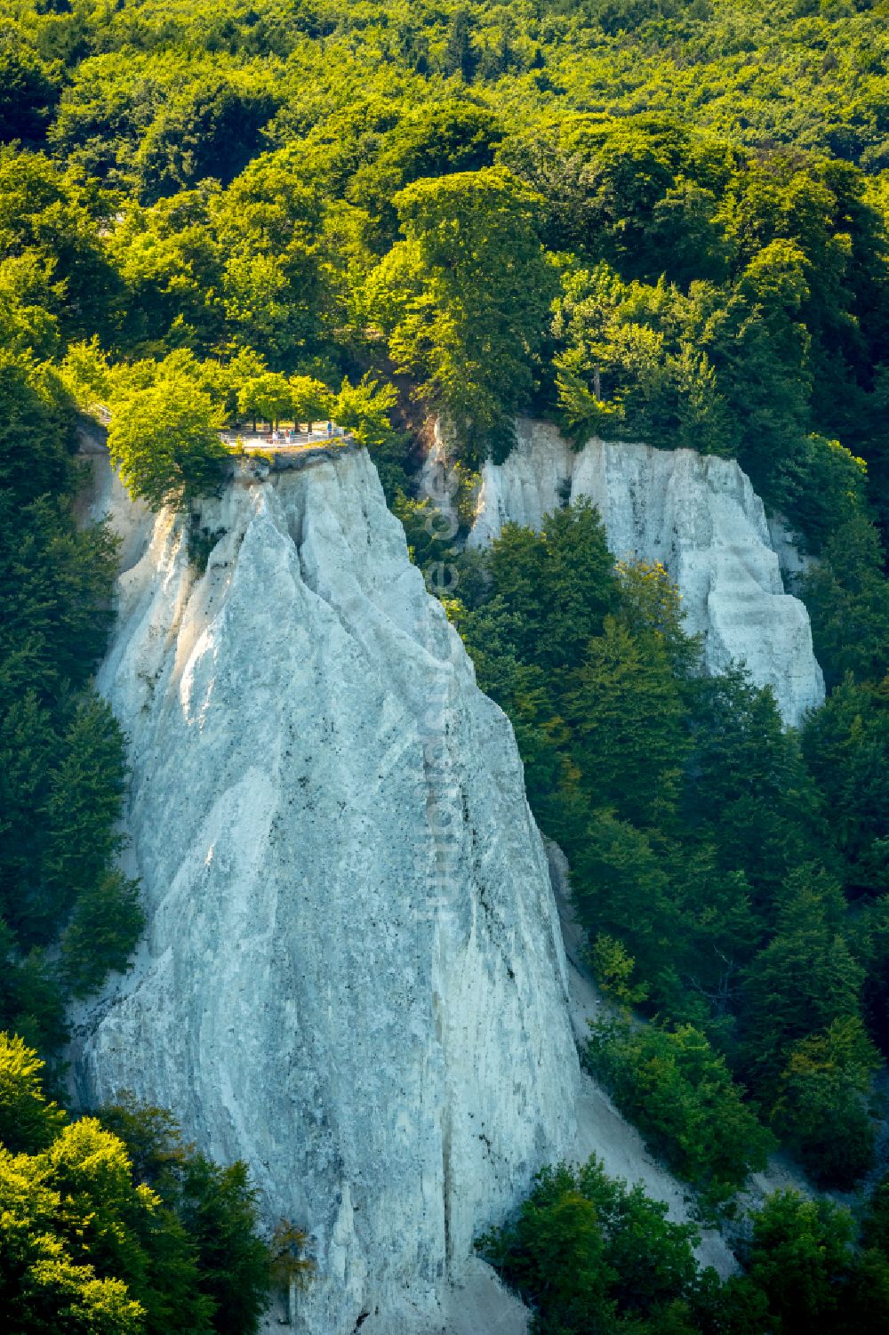
<instances>
[{"instance_id":1,"label":"smaller white chalk cliff at right, set back below the forest","mask_svg":"<svg viewBox=\"0 0 889 1335\"><path fill-rule=\"evenodd\" d=\"M615 557L670 573L709 672L744 661L789 724L824 700L809 615L784 590L762 502L734 461L595 439L575 453L550 423L521 421L506 462L483 466L469 541L490 542L507 521L539 529L579 497L598 507Z\"/></svg>"}]
</instances>

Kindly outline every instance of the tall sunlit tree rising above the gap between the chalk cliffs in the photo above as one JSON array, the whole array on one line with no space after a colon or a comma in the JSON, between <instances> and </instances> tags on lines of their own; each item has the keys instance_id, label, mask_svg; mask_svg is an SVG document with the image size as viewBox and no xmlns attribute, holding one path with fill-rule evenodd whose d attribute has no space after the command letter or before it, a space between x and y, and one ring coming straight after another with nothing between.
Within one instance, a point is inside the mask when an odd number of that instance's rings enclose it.
<instances>
[{"instance_id":1,"label":"tall sunlit tree rising above the gap between the chalk cliffs","mask_svg":"<svg viewBox=\"0 0 889 1335\"><path fill-rule=\"evenodd\" d=\"M534 199L502 168L423 179L395 196L404 232L371 275L392 359L470 447L511 445L527 403L554 282Z\"/></svg>"}]
</instances>

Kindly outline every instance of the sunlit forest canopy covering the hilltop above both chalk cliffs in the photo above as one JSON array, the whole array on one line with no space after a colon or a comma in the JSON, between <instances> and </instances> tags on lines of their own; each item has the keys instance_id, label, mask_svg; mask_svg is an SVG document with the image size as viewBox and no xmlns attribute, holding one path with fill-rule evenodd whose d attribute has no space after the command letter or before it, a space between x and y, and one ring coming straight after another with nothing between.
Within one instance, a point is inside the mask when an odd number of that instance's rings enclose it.
<instances>
[{"instance_id":1,"label":"sunlit forest canopy covering the hilltop above both chalk cliffs","mask_svg":"<svg viewBox=\"0 0 889 1335\"><path fill-rule=\"evenodd\" d=\"M7 8L21 346L334 383L382 332L470 461L535 399L737 454L813 546L854 458L889 513L876 11Z\"/></svg>"}]
</instances>

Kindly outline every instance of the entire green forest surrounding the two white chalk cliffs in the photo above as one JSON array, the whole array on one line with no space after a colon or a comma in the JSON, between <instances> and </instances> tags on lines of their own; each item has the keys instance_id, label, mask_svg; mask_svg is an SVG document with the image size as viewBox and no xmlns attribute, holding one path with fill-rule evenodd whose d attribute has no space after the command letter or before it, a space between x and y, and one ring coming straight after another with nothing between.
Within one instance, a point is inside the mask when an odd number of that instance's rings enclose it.
<instances>
[{"instance_id":1,"label":"entire green forest surrounding the two white chalk cliffs","mask_svg":"<svg viewBox=\"0 0 889 1335\"><path fill-rule=\"evenodd\" d=\"M75 518L79 414L97 409L155 506L215 485L224 422L332 414L430 566L453 557L414 481L432 413L463 521L519 411L578 445L739 461L817 557L797 591L829 696L800 730L742 669L702 677L675 589L615 567L589 507L457 558L449 613L570 860L614 1003L590 1069L706 1212L730 1214L782 1144L818 1187L858 1184L858 1218L780 1193L737 1224L744 1272L719 1286L638 1192L554 1168L483 1246L541 1331L889 1319L889 1187L872 1189L889 1053L888 13L0 0L12 1328L63 1328L64 1311L72 1331L248 1331L267 1268L239 1165L196 1156L156 1109L65 1120L40 1085L35 1049L57 1092L68 1003L125 968L141 930L117 870L123 738L91 685L116 545ZM75 1177L81 1216L59 1206ZM240 1307L223 1271L247 1276Z\"/></svg>"}]
</instances>

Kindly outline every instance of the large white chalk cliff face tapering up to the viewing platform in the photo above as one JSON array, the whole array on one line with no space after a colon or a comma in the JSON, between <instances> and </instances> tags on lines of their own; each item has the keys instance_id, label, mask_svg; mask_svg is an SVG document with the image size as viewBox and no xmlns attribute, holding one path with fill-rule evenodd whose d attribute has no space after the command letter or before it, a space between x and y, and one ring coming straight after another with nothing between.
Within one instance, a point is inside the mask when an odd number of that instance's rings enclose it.
<instances>
[{"instance_id":1,"label":"large white chalk cliff face tapering up to the viewing platform","mask_svg":"<svg viewBox=\"0 0 889 1335\"><path fill-rule=\"evenodd\" d=\"M473 1238L574 1135L510 724L364 451L242 471L202 509L203 575L180 521L132 517L99 688L129 736L148 929L77 1016L76 1087L248 1161L267 1218L314 1236L300 1330L449 1330Z\"/></svg>"}]
</instances>

